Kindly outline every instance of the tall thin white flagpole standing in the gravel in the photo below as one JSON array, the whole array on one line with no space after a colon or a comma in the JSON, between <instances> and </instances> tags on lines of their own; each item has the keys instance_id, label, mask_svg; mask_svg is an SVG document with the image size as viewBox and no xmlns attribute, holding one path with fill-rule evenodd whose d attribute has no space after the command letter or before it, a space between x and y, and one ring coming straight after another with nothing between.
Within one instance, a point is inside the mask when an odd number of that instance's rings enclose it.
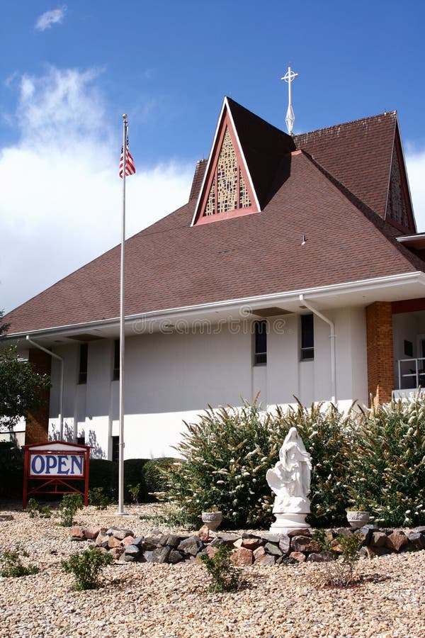
<instances>
[{"instance_id":1,"label":"tall thin white flagpole standing in the gravel","mask_svg":"<svg viewBox=\"0 0 425 638\"><path fill-rule=\"evenodd\" d=\"M119 422L119 457L118 457L118 512L124 512L124 354L125 354L125 306L124 306L124 274L125 274L125 164L127 164L127 115L123 115L123 214L121 217L121 263L120 263L120 422Z\"/></svg>"}]
</instances>

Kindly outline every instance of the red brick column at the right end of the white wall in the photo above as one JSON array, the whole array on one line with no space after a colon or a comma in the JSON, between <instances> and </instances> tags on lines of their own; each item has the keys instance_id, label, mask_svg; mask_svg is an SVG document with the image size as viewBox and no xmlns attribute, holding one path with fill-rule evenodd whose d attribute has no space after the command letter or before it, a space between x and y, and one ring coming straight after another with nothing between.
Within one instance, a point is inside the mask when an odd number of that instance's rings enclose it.
<instances>
[{"instance_id":1,"label":"red brick column at the right end of the white wall","mask_svg":"<svg viewBox=\"0 0 425 638\"><path fill-rule=\"evenodd\" d=\"M391 303L375 301L366 308L368 393L373 403L390 401L394 386Z\"/></svg>"}]
</instances>

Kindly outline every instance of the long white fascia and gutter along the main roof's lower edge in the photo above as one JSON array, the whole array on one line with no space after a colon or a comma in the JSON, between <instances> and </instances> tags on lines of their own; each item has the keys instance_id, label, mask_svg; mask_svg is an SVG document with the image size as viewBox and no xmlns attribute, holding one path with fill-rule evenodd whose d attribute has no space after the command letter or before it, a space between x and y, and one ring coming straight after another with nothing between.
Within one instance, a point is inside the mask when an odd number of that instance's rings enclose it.
<instances>
[{"instance_id":1,"label":"long white fascia and gutter along the main roof's lower edge","mask_svg":"<svg viewBox=\"0 0 425 638\"><path fill-rule=\"evenodd\" d=\"M327 298L332 295L348 294L353 292L370 291L373 289L388 288L390 286L406 286L409 284L421 284L425 286L425 273L421 271L407 272L397 275L389 275L384 277L375 277L373 279L360 279L358 281L346 281L341 284L333 284L331 286L317 286L315 288L302 288L288 292L270 293L268 295L260 295L255 297L244 297L236 299L224 299L213 303L200 303L196 306L181 306L179 308L164 308L164 310L152 310L148 313L137 313L135 315L126 315L125 322L130 323L135 320L161 320L166 318L173 320L182 315L186 317L196 316L212 310L234 310L234 308L250 309L261 308L265 303L288 303L291 301L299 301L300 294L306 298L320 299ZM102 319L90 321L87 323L74 323L69 325L56 326L55 328L47 328L45 330L27 330L26 332L11 333L7 339L17 339L30 335L31 337L64 335L65 332L73 332L77 336L78 332L86 332L87 330L95 330L96 328L105 328L107 326L115 327L119 325L119 318Z\"/></svg>"}]
</instances>

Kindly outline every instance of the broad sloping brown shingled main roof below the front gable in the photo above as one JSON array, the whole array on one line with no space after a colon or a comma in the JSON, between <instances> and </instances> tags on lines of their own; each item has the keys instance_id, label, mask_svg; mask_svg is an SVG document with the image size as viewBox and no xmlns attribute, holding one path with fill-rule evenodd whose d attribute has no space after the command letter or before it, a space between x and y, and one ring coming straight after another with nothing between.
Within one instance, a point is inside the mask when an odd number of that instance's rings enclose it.
<instances>
[{"instance_id":1,"label":"broad sloping brown shingled main roof below the front gable","mask_svg":"<svg viewBox=\"0 0 425 638\"><path fill-rule=\"evenodd\" d=\"M127 240L126 314L425 270L307 154L283 174L262 213L191 227L192 199ZM115 247L8 313L10 332L118 317L119 261Z\"/></svg>"}]
</instances>

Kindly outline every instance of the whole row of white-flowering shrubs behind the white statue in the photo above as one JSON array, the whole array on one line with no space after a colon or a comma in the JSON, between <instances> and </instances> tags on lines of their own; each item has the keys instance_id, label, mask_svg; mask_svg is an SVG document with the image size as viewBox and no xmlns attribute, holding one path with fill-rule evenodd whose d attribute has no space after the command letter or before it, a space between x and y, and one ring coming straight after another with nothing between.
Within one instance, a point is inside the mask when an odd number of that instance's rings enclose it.
<instances>
[{"instance_id":1,"label":"whole row of white-flowering shrubs behind the white statue","mask_svg":"<svg viewBox=\"0 0 425 638\"><path fill-rule=\"evenodd\" d=\"M425 523L425 393L370 414L300 403L261 413L256 402L245 403L209 408L198 424L186 426L166 498L193 525L205 510L221 510L223 527L271 524L266 471L290 427L312 455L310 525L346 525L349 505L385 525Z\"/></svg>"}]
</instances>

